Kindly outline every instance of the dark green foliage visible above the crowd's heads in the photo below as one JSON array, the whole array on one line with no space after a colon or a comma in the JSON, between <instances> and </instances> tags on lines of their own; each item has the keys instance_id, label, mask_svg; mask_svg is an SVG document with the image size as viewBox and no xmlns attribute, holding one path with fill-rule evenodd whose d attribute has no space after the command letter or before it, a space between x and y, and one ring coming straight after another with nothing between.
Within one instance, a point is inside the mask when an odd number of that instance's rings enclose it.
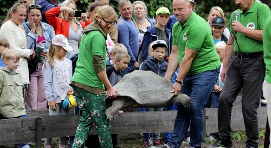
<instances>
[{"instance_id":1,"label":"dark green foliage visible above the crowd's heads","mask_svg":"<svg viewBox=\"0 0 271 148\"><path fill-rule=\"evenodd\" d=\"M60 0L62 2L63 0ZM76 5L77 8L86 11L87 5L89 5L94 0L79 0ZM132 3L136 0L131 0ZM153 18L155 16L156 10L161 7L165 6L168 7L169 10L172 13L172 0L142 0L146 3L148 7L149 14L148 16L150 18ZM15 3L17 0L1 0L0 2L0 20L4 20L7 14L8 9ZM202 16L207 20L207 15L210 11L210 9L213 6L220 6L226 15L226 22L227 18L230 16L231 12L233 12L236 9L235 6L235 0L195 0L197 3L196 6L196 13ZM262 0L263 3L266 3L271 7L271 0ZM110 5L115 8L117 11L118 9L118 0L110 0ZM227 24L227 23L226 23Z\"/></svg>"}]
</instances>

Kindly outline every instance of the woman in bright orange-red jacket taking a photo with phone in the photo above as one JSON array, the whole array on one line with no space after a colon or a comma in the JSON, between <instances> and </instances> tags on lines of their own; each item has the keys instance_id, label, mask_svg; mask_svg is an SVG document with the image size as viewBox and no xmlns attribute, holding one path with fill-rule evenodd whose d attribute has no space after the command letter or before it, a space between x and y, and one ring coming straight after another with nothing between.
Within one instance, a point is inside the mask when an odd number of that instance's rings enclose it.
<instances>
[{"instance_id":1,"label":"woman in bright orange-red jacket taking a photo with phone","mask_svg":"<svg viewBox=\"0 0 271 148\"><path fill-rule=\"evenodd\" d=\"M76 5L72 0L65 0L58 7L53 7L45 12L48 23L54 27L56 35L63 34L69 39L69 44L73 48L68 52L66 58L79 53L78 40L83 36L83 29L91 23L85 13L82 13L80 19L83 21L76 22L75 11ZM57 16L61 13L61 18Z\"/></svg>"}]
</instances>

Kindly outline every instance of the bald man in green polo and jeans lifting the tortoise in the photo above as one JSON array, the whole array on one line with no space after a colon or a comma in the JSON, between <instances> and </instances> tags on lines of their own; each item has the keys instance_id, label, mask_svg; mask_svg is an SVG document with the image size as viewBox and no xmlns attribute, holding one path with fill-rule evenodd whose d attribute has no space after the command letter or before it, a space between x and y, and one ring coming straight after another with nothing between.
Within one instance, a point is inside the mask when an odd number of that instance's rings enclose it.
<instances>
[{"instance_id":1,"label":"bald man in green polo and jeans lifting the tortoise","mask_svg":"<svg viewBox=\"0 0 271 148\"><path fill-rule=\"evenodd\" d=\"M192 11L190 1L173 0L172 5L178 22L172 28L173 46L165 78L170 82L179 68L171 93L184 93L192 103L189 107L178 104L171 139L160 148L179 148L189 126L190 147L201 148L203 108L220 72L220 59L209 26Z\"/></svg>"}]
</instances>

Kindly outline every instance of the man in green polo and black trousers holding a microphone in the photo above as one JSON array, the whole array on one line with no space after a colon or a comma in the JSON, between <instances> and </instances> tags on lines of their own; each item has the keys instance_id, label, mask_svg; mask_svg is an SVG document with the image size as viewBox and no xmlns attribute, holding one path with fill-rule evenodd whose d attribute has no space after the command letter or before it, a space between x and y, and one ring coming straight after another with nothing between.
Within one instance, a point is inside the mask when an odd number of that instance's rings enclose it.
<instances>
[{"instance_id":1,"label":"man in green polo and black trousers holding a microphone","mask_svg":"<svg viewBox=\"0 0 271 148\"><path fill-rule=\"evenodd\" d=\"M219 139L208 148L233 146L231 111L241 88L243 88L242 113L247 137L246 148L258 148L257 109L265 72L262 38L265 21L271 15L271 11L266 4L257 0L235 0L235 2L238 9L230 18L232 37L226 45L220 74L225 85L218 106Z\"/></svg>"}]
</instances>

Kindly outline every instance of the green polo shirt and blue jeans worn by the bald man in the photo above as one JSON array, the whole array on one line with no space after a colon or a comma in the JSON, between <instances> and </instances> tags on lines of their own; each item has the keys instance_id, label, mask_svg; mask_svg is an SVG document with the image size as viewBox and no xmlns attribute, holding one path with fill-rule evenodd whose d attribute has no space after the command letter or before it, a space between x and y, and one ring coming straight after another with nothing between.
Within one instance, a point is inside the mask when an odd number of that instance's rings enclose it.
<instances>
[{"instance_id":1,"label":"green polo shirt and blue jeans worn by the bald man","mask_svg":"<svg viewBox=\"0 0 271 148\"><path fill-rule=\"evenodd\" d=\"M185 48L198 52L183 79L183 86L180 90L180 93L190 96L192 103L188 108L178 104L174 130L167 145L170 148L179 148L190 126L191 141L189 145L201 148L204 124L203 108L217 81L220 59L216 53L209 26L193 11L185 24L179 22L174 24L172 37L173 45L178 46L179 65L184 57Z\"/></svg>"}]
</instances>

